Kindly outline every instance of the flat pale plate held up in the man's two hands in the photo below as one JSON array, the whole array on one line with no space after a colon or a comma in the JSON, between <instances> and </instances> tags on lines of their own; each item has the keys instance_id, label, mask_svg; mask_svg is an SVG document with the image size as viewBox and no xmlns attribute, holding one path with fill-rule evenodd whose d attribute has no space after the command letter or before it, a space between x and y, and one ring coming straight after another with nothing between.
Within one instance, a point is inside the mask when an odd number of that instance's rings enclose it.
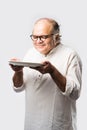
<instances>
[{"instance_id":1,"label":"flat pale plate held up in the man's two hands","mask_svg":"<svg viewBox=\"0 0 87 130\"><path fill-rule=\"evenodd\" d=\"M21 61L9 61L9 64L24 67L39 67L41 63L21 62Z\"/></svg>"}]
</instances>

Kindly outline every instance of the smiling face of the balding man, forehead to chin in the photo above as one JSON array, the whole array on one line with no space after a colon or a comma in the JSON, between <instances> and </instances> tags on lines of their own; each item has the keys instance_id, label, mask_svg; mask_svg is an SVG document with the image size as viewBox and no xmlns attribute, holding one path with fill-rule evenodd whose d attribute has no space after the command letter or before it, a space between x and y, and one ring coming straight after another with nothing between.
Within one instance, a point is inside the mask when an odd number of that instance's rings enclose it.
<instances>
[{"instance_id":1,"label":"smiling face of the balding man, forehead to chin","mask_svg":"<svg viewBox=\"0 0 87 130\"><path fill-rule=\"evenodd\" d=\"M46 35L48 35L48 38L45 37ZM35 38L35 40L33 40L34 47L40 53L47 55L54 47L52 25L49 22L39 21L36 23L33 30L33 36Z\"/></svg>"}]
</instances>

